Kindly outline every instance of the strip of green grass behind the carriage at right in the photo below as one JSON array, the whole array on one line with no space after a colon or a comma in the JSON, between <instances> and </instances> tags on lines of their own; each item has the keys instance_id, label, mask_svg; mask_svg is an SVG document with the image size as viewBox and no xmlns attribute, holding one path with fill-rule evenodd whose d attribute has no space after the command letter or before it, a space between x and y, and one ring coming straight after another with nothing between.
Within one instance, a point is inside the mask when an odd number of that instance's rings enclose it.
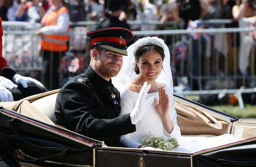
<instances>
[{"instance_id":1,"label":"strip of green grass behind the carriage at right","mask_svg":"<svg viewBox=\"0 0 256 167\"><path fill-rule=\"evenodd\" d=\"M186 98L197 99L199 97L197 95L188 95ZM238 118L256 118L256 104L245 104L245 108L243 110L241 110L239 105L214 105L209 107L236 116Z\"/></svg>"}]
</instances>

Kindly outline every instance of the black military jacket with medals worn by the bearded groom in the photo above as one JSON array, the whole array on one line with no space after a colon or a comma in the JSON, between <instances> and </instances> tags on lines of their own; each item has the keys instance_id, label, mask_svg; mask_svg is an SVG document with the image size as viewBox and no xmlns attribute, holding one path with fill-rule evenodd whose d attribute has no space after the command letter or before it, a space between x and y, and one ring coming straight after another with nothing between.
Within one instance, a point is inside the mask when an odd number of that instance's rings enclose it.
<instances>
[{"instance_id":1,"label":"black military jacket with medals worn by the bearded groom","mask_svg":"<svg viewBox=\"0 0 256 167\"><path fill-rule=\"evenodd\" d=\"M136 130L130 114L118 116L119 91L91 66L68 81L57 96L54 123L90 138L120 147L120 137Z\"/></svg>"}]
</instances>

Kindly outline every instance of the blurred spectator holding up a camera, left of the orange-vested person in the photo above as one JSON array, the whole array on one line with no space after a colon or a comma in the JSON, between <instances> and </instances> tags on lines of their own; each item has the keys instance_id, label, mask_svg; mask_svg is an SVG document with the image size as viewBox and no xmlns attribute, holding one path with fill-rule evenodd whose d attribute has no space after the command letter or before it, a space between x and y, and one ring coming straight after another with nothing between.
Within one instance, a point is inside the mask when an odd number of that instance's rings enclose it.
<instances>
[{"instance_id":1,"label":"blurred spectator holding up a camera, left of the orange-vested person","mask_svg":"<svg viewBox=\"0 0 256 167\"><path fill-rule=\"evenodd\" d=\"M16 20L40 23L48 7L46 0L21 0L16 11Z\"/></svg>"}]
</instances>

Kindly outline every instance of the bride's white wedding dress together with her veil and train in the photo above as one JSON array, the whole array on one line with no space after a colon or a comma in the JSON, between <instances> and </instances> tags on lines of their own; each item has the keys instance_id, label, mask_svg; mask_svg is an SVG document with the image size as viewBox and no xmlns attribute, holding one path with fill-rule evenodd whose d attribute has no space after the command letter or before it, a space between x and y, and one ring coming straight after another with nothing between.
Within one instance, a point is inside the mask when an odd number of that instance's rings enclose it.
<instances>
[{"instance_id":1,"label":"bride's white wedding dress together with her veil and train","mask_svg":"<svg viewBox=\"0 0 256 167\"><path fill-rule=\"evenodd\" d=\"M159 45L157 43L161 43ZM139 46L147 45L147 44L156 44L158 46L164 47L165 59L163 61L163 69L160 75L157 78L157 82L166 84L165 87L166 94L170 97L170 109L169 116L171 121L174 124L174 129L171 133L165 131L165 127L163 125L163 121L159 114L157 113L154 102L149 107L149 110L146 112L146 115L142 120L136 123L136 131L127 135L121 136L121 143L126 147L137 148L141 145L142 137L151 132L153 135L158 137L165 137L166 139L171 139L175 137L178 140L178 144L180 145L178 148L175 148L174 151L182 151L182 152L197 152L204 149L214 148L221 145L229 144L238 141L235 139L233 135L224 134L221 136L215 137L196 137L197 141L191 141L190 137L181 136L180 128L177 124L177 113L174 108L173 102L173 80L171 76L171 68L170 68L170 52L167 45L164 41L158 37L146 37L139 39L130 47L127 48L128 56L123 57L123 62L125 62L122 66L121 71L118 73L116 77L112 78L112 83L115 87L120 91L120 105L121 105L121 113L120 115L130 113L139 97L139 93L134 93L130 90L127 90L123 87L127 82L133 80L137 74L135 74L134 68L134 51ZM157 101L159 100L158 92L148 93L146 95L146 101L150 97L155 97ZM189 140L188 140L189 139Z\"/></svg>"}]
</instances>

